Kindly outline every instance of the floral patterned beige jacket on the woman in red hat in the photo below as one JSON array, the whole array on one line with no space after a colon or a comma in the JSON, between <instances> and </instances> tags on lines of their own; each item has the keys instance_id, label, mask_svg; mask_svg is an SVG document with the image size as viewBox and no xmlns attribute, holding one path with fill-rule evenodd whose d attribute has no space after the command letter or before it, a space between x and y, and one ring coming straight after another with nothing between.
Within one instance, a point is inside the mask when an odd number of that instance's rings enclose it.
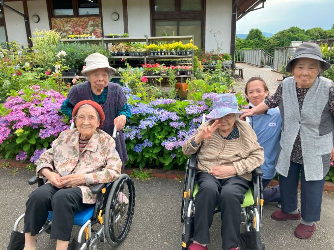
<instances>
[{"instance_id":1,"label":"floral patterned beige jacket on the woman in red hat","mask_svg":"<svg viewBox=\"0 0 334 250\"><path fill-rule=\"evenodd\" d=\"M97 195L91 192L92 184L114 181L119 177L122 162L115 150L115 141L109 134L96 129L83 152L79 151L79 131L77 128L65 130L37 161L36 172L49 168L60 176L84 174L85 184L79 186L83 192L83 203L93 204Z\"/></svg>"}]
</instances>

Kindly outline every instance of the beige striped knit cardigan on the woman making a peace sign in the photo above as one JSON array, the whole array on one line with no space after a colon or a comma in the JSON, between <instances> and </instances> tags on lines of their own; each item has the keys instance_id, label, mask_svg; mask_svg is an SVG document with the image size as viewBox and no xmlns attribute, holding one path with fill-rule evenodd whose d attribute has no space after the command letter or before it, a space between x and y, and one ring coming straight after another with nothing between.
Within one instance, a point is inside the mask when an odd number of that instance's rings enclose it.
<instances>
[{"instance_id":1,"label":"beige striped knit cardigan on the woman making a peace sign","mask_svg":"<svg viewBox=\"0 0 334 250\"><path fill-rule=\"evenodd\" d=\"M191 155L198 150L198 147L192 146L192 140L204 127L212 125L213 122L211 120L197 128L195 134L183 145L183 154ZM197 154L198 172L208 172L217 165L233 166L237 175L251 180L251 172L264 162L263 148L258 144L256 134L247 122L237 119L235 125L240 135L237 139L225 140L217 129L211 139L202 141ZM228 177L231 176L225 178Z\"/></svg>"}]
</instances>

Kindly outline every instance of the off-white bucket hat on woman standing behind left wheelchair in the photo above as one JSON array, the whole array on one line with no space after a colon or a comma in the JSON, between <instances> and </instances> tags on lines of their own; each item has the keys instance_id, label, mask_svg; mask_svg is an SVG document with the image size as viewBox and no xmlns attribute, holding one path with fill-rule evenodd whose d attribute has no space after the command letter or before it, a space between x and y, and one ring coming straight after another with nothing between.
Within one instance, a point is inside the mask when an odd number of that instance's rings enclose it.
<instances>
[{"instance_id":1,"label":"off-white bucket hat on woman standing behind left wheelchair","mask_svg":"<svg viewBox=\"0 0 334 250\"><path fill-rule=\"evenodd\" d=\"M92 53L84 59L86 62L86 67L81 72L83 75L87 75L88 72L94 71L97 69L107 69L109 76L114 75L116 70L109 65L108 58L100 53Z\"/></svg>"}]
</instances>

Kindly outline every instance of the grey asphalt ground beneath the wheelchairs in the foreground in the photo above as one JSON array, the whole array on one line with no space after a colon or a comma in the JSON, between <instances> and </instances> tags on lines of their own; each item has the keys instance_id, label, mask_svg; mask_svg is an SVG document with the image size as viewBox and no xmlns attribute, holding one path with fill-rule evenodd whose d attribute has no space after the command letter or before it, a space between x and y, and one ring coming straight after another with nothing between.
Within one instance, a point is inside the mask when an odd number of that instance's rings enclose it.
<instances>
[{"instance_id":1,"label":"grey asphalt ground beneath the wheelchairs in the foreground","mask_svg":"<svg viewBox=\"0 0 334 250\"><path fill-rule=\"evenodd\" d=\"M0 250L5 250L15 220L25 211L28 194L36 187L27 183L34 172L0 168ZM152 178L135 180L136 207L130 232L117 250L181 250L180 223L183 180ZM297 221L276 222L270 214L276 204L265 205L262 221L262 241L266 250L334 250L334 194L324 192L321 221L309 240L293 235ZM78 227L73 229L77 236ZM220 250L220 215L216 214L210 231L209 250ZM38 250L54 250L55 241L48 234L38 237ZM108 244L99 243L98 250L111 250Z\"/></svg>"}]
</instances>

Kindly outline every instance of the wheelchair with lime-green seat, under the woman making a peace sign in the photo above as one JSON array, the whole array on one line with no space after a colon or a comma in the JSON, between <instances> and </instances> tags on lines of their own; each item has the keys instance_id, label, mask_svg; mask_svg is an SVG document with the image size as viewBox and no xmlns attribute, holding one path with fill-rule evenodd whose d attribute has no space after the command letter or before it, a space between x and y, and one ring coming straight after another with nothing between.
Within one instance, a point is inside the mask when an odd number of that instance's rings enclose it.
<instances>
[{"instance_id":1,"label":"wheelchair with lime-green seat, under the woman making a peace sign","mask_svg":"<svg viewBox=\"0 0 334 250\"><path fill-rule=\"evenodd\" d=\"M202 123L205 121L203 115ZM182 228L182 250L188 250L193 242L194 234L194 214L195 214L195 195L198 192L198 184L195 181L197 165L197 152L192 154L187 161L186 172L183 183L182 204L181 204L181 223ZM252 181L250 188L245 193L245 199L241 205L241 226L245 233L240 233L240 250L264 250L264 244L260 239L260 228L262 222L262 170L257 167L252 171ZM216 207L214 213L220 210Z\"/></svg>"}]
</instances>

